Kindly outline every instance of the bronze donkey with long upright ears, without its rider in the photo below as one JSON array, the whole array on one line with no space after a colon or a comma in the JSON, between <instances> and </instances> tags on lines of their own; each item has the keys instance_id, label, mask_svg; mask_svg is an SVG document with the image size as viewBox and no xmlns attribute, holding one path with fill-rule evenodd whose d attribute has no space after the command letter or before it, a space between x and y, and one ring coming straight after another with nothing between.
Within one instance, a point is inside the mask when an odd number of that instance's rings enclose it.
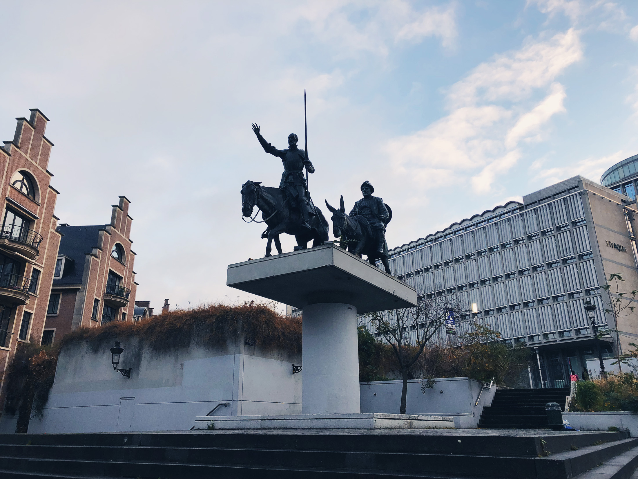
<instances>
[{"instance_id":1,"label":"bronze donkey with long upright ears, without its rider","mask_svg":"<svg viewBox=\"0 0 638 479\"><path fill-rule=\"evenodd\" d=\"M328 202L325 202L330 213L332 213L332 234L336 238L343 238L348 245L348 251L354 255L361 257L362 254L367 255L367 261L376 266L376 259L381 259L385 272L390 273L390 264L388 262L388 245L385 245L384 254L376 251L377 240L367 220L362 217L357 219L350 218L346 215L345 206L343 206L343 195L339 200L339 209L332 208ZM388 223L392 220L392 209L386 204L385 208L390 213ZM360 219L359 219L360 218ZM342 246L343 248L343 246Z\"/></svg>"}]
</instances>

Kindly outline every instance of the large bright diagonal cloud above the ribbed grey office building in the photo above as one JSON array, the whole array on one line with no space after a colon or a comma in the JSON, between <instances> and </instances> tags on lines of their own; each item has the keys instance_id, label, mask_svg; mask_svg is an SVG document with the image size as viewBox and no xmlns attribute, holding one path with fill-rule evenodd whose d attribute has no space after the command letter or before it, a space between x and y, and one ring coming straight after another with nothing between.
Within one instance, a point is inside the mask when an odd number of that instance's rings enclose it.
<instances>
[{"instance_id":1,"label":"large bright diagonal cloud above the ribbed grey office building","mask_svg":"<svg viewBox=\"0 0 638 479\"><path fill-rule=\"evenodd\" d=\"M541 140L543 127L565 111L555 79L581 57L570 29L477 66L450 87L447 116L388 142L397 174L433 187L469 183L478 194L501 189L494 185L521 158L521 142ZM531 103L543 90L545 98Z\"/></svg>"}]
</instances>

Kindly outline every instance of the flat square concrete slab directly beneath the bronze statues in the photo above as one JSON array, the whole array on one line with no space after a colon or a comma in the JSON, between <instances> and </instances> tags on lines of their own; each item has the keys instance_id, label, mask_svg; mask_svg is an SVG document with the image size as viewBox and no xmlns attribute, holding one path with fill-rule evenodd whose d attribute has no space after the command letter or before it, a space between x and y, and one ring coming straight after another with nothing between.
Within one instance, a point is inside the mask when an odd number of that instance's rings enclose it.
<instances>
[{"instance_id":1,"label":"flat square concrete slab directly beneath the bronze statues","mask_svg":"<svg viewBox=\"0 0 638 479\"><path fill-rule=\"evenodd\" d=\"M229 264L226 284L295 308L344 303L367 313L417 304L415 289L333 243Z\"/></svg>"}]
</instances>

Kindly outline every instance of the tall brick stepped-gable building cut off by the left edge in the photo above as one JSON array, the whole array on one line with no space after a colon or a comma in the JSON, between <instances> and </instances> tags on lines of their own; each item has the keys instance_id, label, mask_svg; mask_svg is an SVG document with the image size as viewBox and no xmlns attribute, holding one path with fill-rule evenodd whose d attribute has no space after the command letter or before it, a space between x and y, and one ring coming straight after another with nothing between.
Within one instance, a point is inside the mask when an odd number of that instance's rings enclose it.
<instances>
[{"instance_id":1,"label":"tall brick stepped-gable building cut off by the left edge","mask_svg":"<svg viewBox=\"0 0 638 479\"><path fill-rule=\"evenodd\" d=\"M17 118L13 141L0 148L3 224L0 231L0 377L19 342L40 344L60 234L57 195L47 170L53 146L48 118L31 109Z\"/></svg>"}]
</instances>

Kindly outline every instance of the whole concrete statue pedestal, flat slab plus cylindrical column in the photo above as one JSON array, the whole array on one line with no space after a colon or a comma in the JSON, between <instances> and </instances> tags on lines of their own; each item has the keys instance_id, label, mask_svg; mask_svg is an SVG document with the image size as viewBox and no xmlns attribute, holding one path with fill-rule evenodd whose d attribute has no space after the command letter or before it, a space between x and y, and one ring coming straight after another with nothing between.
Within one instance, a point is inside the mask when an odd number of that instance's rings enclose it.
<instances>
[{"instance_id":1,"label":"whole concrete statue pedestal, flat slab plus cylindrical column","mask_svg":"<svg viewBox=\"0 0 638 479\"><path fill-rule=\"evenodd\" d=\"M414 289L332 243L230 264L226 284L303 308L304 416L360 413L357 312L417 304Z\"/></svg>"}]
</instances>

